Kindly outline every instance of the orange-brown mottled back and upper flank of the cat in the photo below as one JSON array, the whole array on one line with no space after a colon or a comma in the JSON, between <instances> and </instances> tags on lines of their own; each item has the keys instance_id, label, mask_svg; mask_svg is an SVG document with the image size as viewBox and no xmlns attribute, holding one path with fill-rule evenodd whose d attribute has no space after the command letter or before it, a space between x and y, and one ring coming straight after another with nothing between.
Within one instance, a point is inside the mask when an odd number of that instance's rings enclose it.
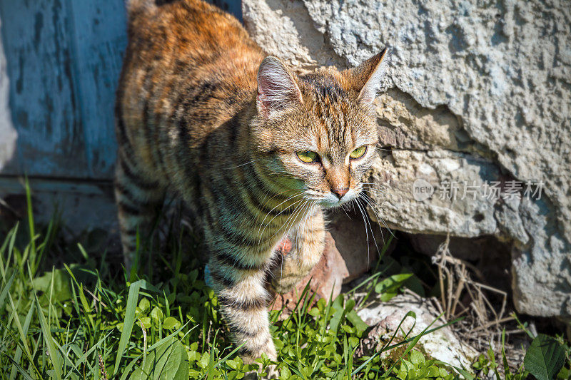
<instances>
[{"instance_id":1,"label":"orange-brown mottled back and upper flank of the cat","mask_svg":"<svg viewBox=\"0 0 571 380\"><path fill-rule=\"evenodd\" d=\"M148 167L156 167L157 155L177 149L175 130L181 148L196 148L251 102L263 59L240 22L215 6L159 3L128 2L116 103L118 143Z\"/></svg>"}]
</instances>

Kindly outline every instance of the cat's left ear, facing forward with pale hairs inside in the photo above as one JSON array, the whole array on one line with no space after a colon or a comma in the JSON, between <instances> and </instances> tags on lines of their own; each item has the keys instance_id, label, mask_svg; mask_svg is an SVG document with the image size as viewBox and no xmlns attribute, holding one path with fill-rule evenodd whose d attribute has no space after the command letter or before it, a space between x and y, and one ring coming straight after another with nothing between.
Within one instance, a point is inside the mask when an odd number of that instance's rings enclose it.
<instances>
[{"instance_id":1,"label":"cat's left ear, facing forward with pale hairs inside","mask_svg":"<svg viewBox=\"0 0 571 380\"><path fill-rule=\"evenodd\" d=\"M280 59L264 58L258 69L258 113L269 118L285 108L303 103L294 75Z\"/></svg>"}]
</instances>

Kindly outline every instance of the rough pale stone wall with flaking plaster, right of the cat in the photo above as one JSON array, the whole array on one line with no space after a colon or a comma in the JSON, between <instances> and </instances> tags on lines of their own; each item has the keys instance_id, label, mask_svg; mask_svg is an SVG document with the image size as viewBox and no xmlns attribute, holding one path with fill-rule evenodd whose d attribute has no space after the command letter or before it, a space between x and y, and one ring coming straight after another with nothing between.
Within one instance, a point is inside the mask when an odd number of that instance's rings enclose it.
<instances>
[{"instance_id":1,"label":"rough pale stone wall with flaking plaster, right of the cat","mask_svg":"<svg viewBox=\"0 0 571 380\"><path fill-rule=\"evenodd\" d=\"M371 174L371 215L408 232L511 242L516 307L571 317L567 1L244 0L243 19L301 70L353 66L389 46L376 101L388 150ZM419 179L428 197L413 195ZM440 199L447 180L477 196ZM522 182L517 197L506 196L510 180ZM500 199L481 196L486 181L500 183ZM527 181L544 183L540 199L523 196Z\"/></svg>"}]
</instances>

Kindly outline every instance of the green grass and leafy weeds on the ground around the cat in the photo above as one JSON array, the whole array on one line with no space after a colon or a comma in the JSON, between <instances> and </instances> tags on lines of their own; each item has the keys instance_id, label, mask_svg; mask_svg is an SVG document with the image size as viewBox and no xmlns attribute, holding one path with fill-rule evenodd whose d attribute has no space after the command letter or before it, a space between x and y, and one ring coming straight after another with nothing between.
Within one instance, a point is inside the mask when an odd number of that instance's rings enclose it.
<instances>
[{"instance_id":1,"label":"green grass and leafy weeds on the ground around the cat","mask_svg":"<svg viewBox=\"0 0 571 380\"><path fill-rule=\"evenodd\" d=\"M127 274L93 234L69 246L57 218L37 227L29 192L28 201L26 227L0 236L0 379L242 379L258 369L236 355L192 237L168 232L158 264ZM418 287L411 276L374 272L359 289L390 298L406 284ZM357 355L368 327L353 294L313 302L305 287L288 317L271 312L279 357L261 358L262 373L274 364L281 379L471 378L415 349L440 322Z\"/></svg>"}]
</instances>

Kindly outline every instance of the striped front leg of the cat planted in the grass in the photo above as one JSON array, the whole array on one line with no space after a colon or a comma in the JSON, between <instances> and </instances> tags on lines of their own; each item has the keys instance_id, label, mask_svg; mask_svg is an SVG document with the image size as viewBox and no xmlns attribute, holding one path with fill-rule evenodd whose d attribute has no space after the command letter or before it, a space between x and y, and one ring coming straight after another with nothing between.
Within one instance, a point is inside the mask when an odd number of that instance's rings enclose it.
<instances>
[{"instance_id":1,"label":"striped front leg of the cat planted in the grass","mask_svg":"<svg viewBox=\"0 0 571 380\"><path fill-rule=\"evenodd\" d=\"M233 342L242 345L239 352L243 361L253 363L263 353L276 360L268 319L270 294L265 287L265 268L239 269L221 264L216 255L208 267L208 281L218 295Z\"/></svg>"}]
</instances>

